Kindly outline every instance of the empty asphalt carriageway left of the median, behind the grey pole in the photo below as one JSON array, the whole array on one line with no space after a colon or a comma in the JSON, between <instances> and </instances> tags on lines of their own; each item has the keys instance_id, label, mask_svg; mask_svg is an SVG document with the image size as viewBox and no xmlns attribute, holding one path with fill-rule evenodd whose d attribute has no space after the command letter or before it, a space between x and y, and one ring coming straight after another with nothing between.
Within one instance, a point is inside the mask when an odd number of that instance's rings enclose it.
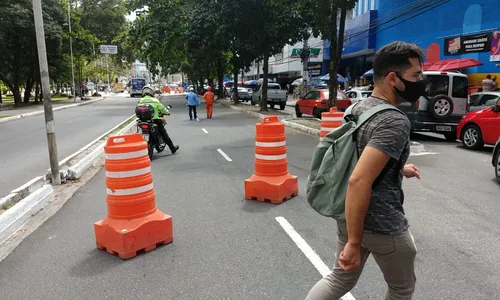
<instances>
[{"instance_id":1,"label":"empty asphalt carriageway left of the median, behind the grey pole","mask_svg":"<svg viewBox=\"0 0 500 300\"><path fill-rule=\"evenodd\" d=\"M137 98L127 94L54 112L58 160L76 152L134 114ZM0 123L0 197L50 167L44 115Z\"/></svg>"}]
</instances>

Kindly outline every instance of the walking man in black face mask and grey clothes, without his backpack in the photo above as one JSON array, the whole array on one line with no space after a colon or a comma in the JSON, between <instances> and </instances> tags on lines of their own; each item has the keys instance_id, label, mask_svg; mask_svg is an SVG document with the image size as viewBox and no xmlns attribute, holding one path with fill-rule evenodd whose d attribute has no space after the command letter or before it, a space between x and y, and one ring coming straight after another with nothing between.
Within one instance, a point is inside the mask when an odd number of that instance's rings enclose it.
<instances>
[{"instance_id":1,"label":"walking man in black face mask and grey clothes, without his backpack","mask_svg":"<svg viewBox=\"0 0 500 300\"><path fill-rule=\"evenodd\" d=\"M425 95L423 52L415 44L393 42L374 57L374 91L353 107L359 116L380 104L415 103ZM351 291L370 254L387 282L386 300L409 300L415 289L417 248L403 209L403 176L420 179L410 154L408 117L396 110L374 115L357 132L359 160L349 178L345 220L337 221L337 254L330 274L307 300L340 299Z\"/></svg>"}]
</instances>

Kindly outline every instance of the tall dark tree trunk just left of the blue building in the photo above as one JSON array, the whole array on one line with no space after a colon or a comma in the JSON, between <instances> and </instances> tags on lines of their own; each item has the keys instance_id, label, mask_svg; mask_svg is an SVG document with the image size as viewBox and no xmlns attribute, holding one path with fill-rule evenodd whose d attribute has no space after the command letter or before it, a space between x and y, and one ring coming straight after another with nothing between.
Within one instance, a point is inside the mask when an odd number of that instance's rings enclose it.
<instances>
[{"instance_id":1,"label":"tall dark tree trunk just left of the blue building","mask_svg":"<svg viewBox=\"0 0 500 300\"><path fill-rule=\"evenodd\" d=\"M337 12L338 7L336 4L331 4L330 10L330 24L332 28L330 32L332 36L330 37L330 80L329 85L329 95L328 95L328 109L337 106L337 51L338 51L338 39L337 39ZM345 16L344 16L345 21ZM342 48L340 48L340 53L342 53Z\"/></svg>"}]
</instances>

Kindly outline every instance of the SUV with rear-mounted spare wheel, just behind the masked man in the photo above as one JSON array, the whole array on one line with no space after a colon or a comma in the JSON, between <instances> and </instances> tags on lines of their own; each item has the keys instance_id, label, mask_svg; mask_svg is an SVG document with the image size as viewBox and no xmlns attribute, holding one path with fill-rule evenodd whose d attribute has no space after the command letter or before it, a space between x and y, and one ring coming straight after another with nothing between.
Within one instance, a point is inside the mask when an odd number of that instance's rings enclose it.
<instances>
[{"instance_id":1,"label":"SUV with rear-mounted spare wheel, just behind the masked man","mask_svg":"<svg viewBox=\"0 0 500 300\"><path fill-rule=\"evenodd\" d=\"M427 96L398 107L406 113L412 131L442 133L449 141L457 138L458 123L467 113L469 79L459 72L424 72Z\"/></svg>"}]
</instances>

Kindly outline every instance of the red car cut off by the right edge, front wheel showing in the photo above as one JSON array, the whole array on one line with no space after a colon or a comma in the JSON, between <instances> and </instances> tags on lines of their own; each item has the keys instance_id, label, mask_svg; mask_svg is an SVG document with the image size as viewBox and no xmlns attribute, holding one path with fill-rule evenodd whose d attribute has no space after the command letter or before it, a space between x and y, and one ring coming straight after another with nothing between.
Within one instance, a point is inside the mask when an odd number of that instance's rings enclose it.
<instances>
[{"instance_id":1,"label":"red car cut off by the right edge, front wheel showing","mask_svg":"<svg viewBox=\"0 0 500 300\"><path fill-rule=\"evenodd\" d=\"M458 123L457 139L468 149L495 145L500 137L500 100L493 106L472 111Z\"/></svg>"}]
</instances>

